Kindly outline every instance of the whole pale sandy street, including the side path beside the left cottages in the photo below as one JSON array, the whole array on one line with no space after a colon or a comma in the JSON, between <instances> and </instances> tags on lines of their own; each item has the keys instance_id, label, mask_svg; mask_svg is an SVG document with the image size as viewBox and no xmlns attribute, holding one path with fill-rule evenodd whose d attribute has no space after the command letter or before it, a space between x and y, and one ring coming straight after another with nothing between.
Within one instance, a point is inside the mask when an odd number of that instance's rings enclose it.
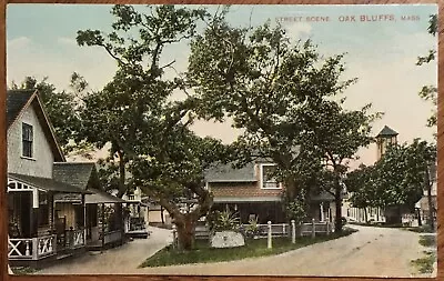
<instances>
[{"instance_id":1,"label":"whole pale sandy street, including the side path beside the left cottages","mask_svg":"<svg viewBox=\"0 0 444 281\"><path fill-rule=\"evenodd\" d=\"M424 257L420 233L397 229L354 227L349 237L301 248L280 255L232 262L138 269L165 245L164 230L147 240L135 240L102 254L87 255L40 271L47 273L137 273L203 275L330 275L330 277L420 277L410 264ZM168 232L167 232L168 233ZM423 274L421 277L430 277Z\"/></svg>"}]
</instances>

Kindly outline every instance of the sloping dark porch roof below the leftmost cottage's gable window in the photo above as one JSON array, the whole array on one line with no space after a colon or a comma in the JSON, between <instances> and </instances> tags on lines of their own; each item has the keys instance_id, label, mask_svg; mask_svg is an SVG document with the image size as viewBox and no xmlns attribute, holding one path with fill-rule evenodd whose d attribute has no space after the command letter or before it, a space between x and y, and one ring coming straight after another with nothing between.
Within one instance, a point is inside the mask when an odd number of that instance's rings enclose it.
<instances>
[{"instance_id":1,"label":"sloping dark porch roof below the leftmost cottage's gable window","mask_svg":"<svg viewBox=\"0 0 444 281\"><path fill-rule=\"evenodd\" d=\"M50 178L40 178L40 177L32 177L19 173L8 173L8 178L46 191L61 192L61 193L83 193L83 194L91 193L88 190L81 190L71 184L56 181Z\"/></svg>"}]
</instances>

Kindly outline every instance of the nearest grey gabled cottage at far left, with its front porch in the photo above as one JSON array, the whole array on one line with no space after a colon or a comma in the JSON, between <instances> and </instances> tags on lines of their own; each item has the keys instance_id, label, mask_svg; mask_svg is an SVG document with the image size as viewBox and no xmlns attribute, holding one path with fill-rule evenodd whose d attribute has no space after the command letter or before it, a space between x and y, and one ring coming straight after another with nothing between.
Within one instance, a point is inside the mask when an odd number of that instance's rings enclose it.
<instances>
[{"instance_id":1,"label":"nearest grey gabled cottage at far left, with its front porch","mask_svg":"<svg viewBox=\"0 0 444 281\"><path fill-rule=\"evenodd\" d=\"M65 161L37 91L8 91L9 252L12 264L38 265L84 250L84 197L89 191L58 181ZM56 198L77 198L69 235L58 235Z\"/></svg>"}]
</instances>

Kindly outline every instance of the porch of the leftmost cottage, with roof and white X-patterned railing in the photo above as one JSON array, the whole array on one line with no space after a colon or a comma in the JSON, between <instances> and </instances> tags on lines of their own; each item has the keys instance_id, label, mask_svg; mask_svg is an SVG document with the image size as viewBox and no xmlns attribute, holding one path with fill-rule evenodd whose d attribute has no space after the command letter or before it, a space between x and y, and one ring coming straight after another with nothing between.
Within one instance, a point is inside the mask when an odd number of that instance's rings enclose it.
<instances>
[{"instance_id":1,"label":"porch of the leftmost cottage, with roof and white X-patterned railing","mask_svg":"<svg viewBox=\"0 0 444 281\"><path fill-rule=\"evenodd\" d=\"M71 192L71 193L68 193ZM51 179L9 174L8 259L12 265L38 267L38 262L62 259L84 250L84 220L77 228L59 229L57 199L60 194L80 198L84 191ZM81 214L83 214L81 212Z\"/></svg>"}]
</instances>

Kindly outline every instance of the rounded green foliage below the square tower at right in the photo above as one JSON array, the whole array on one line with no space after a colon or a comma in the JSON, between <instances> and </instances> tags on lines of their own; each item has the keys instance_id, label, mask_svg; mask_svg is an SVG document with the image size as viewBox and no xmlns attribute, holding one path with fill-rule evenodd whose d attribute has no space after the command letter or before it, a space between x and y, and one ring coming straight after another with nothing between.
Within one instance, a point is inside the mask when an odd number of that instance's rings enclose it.
<instances>
[{"instance_id":1,"label":"rounded green foliage below the square tower at right","mask_svg":"<svg viewBox=\"0 0 444 281\"><path fill-rule=\"evenodd\" d=\"M413 208L427 188L427 169L435 159L436 147L426 141L390 145L374 167L361 167L347 174L353 205Z\"/></svg>"}]
</instances>

